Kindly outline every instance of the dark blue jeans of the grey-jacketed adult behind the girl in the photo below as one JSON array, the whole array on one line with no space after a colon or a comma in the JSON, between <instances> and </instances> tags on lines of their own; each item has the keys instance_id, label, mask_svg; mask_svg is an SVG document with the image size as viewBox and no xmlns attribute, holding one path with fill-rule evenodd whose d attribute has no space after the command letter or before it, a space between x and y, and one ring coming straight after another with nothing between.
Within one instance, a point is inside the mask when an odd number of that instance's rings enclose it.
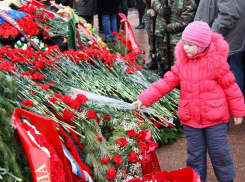
<instances>
[{"instance_id":1,"label":"dark blue jeans of the grey-jacketed adult behind the girl","mask_svg":"<svg viewBox=\"0 0 245 182\"><path fill-rule=\"evenodd\" d=\"M231 72L235 75L236 83L243 91L243 65L242 65L243 52L233 54L229 57L229 64Z\"/></svg>"}]
</instances>

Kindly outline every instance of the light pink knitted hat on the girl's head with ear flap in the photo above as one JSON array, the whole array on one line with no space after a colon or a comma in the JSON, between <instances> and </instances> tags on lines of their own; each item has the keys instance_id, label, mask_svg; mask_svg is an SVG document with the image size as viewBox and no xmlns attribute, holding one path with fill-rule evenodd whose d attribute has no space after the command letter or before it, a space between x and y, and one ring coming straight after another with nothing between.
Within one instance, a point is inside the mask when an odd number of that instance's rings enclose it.
<instances>
[{"instance_id":1,"label":"light pink knitted hat on the girl's head with ear flap","mask_svg":"<svg viewBox=\"0 0 245 182\"><path fill-rule=\"evenodd\" d=\"M194 21L187 25L182 33L182 40L198 46L198 54L202 53L211 42L211 29L205 22Z\"/></svg>"}]
</instances>

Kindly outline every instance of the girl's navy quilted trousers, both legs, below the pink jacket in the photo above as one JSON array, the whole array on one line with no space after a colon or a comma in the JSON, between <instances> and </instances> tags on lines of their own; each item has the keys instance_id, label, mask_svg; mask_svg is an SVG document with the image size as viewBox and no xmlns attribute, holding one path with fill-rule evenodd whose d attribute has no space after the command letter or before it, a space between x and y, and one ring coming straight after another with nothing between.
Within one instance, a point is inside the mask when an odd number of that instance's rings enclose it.
<instances>
[{"instance_id":1,"label":"girl's navy quilted trousers, both legs, below the pink jacket","mask_svg":"<svg viewBox=\"0 0 245 182\"><path fill-rule=\"evenodd\" d=\"M200 175L201 181L206 181L207 151L218 181L229 182L235 178L236 171L227 138L228 124L202 129L184 125L183 129L188 153L186 166L194 169Z\"/></svg>"}]
</instances>

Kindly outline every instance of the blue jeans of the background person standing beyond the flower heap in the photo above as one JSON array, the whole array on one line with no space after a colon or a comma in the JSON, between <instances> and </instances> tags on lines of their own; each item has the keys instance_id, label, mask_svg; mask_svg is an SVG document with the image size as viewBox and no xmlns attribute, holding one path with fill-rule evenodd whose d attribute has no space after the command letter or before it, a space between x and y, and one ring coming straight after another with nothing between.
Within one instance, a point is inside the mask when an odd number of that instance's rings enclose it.
<instances>
[{"instance_id":1,"label":"blue jeans of the background person standing beyond the flower heap","mask_svg":"<svg viewBox=\"0 0 245 182\"><path fill-rule=\"evenodd\" d=\"M117 32L117 14L102 15L103 30L105 32L105 40L115 41L113 32Z\"/></svg>"}]
</instances>

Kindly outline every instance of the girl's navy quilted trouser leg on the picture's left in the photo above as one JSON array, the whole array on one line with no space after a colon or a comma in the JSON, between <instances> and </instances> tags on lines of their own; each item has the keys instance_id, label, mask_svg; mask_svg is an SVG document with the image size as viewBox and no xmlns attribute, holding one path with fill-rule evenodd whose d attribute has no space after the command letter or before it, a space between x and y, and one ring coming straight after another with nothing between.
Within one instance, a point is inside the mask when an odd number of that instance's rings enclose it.
<instances>
[{"instance_id":1,"label":"girl's navy quilted trouser leg on the picture's left","mask_svg":"<svg viewBox=\"0 0 245 182\"><path fill-rule=\"evenodd\" d=\"M201 178L206 181L207 176L207 146L204 129L193 128L184 125L187 142L187 161L186 167L192 168Z\"/></svg>"}]
</instances>

